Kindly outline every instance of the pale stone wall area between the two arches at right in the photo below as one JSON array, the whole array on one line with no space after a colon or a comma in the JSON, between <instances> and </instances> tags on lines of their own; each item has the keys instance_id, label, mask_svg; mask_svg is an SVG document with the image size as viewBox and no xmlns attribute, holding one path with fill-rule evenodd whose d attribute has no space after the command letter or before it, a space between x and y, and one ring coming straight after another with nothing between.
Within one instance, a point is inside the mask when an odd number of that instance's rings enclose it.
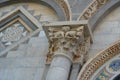
<instances>
[{"instance_id":1,"label":"pale stone wall area between the two arches at right","mask_svg":"<svg viewBox=\"0 0 120 80\"><path fill-rule=\"evenodd\" d=\"M96 55L101 50L109 47L115 41L120 39L120 7L112 11L93 32L94 43L89 51L89 58Z\"/></svg>"}]
</instances>

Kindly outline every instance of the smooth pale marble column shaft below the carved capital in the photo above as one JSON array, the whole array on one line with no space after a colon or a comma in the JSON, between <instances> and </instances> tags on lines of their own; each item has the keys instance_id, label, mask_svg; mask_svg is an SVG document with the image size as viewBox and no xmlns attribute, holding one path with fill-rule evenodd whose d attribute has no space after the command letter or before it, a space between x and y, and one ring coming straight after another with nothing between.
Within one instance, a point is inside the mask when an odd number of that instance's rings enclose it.
<instances>
[{"instance_id":1,"label":"smooth pale marble column shaft below the carved capital","mask_svg":"<svg viewBox=\"0 0 120 80\"><path fill-rule=\"evenodd\" d=\"M64 55L54 56L46 80L68 80L71 63Z\"/></svg>"}]
</instances>

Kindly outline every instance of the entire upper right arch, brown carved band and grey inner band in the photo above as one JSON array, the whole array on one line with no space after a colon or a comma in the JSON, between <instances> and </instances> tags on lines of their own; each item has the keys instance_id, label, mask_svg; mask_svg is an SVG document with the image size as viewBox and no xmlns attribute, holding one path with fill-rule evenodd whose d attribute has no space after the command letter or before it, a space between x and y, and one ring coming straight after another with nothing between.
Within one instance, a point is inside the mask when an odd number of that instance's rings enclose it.
<instances>
[{"instance_id":1,"label":"entire upper right arch, brown carved band and grey inner band","mask_svg":"<svg viewBox=\"0 0 120 80\"><path fill-rule=\"evenodd\" d=\"M100 1L104 3L100 3ZM120 0L93 0L78 17L78 20L89 20L89 26L94 31L101 19L119 7L119 4Z\"/></svg>"}]
</instances>

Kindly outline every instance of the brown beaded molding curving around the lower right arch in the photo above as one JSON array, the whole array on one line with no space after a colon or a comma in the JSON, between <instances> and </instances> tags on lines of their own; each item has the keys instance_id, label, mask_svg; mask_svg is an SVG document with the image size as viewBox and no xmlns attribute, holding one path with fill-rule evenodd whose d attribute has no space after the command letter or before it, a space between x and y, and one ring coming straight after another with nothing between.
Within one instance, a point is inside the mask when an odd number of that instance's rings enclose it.
<instances>
[{"instance_id":1,"label":"brown beaded molding curving around the lower right arch","mask_svg":"<svg viewBox=\"0 0 120 80\"><path fill-rule=\"evenodd\" d=\"M94 58L89 60L81 69L77 80L89 80L100 66L104 65L113 56L120 53L120 41L117 41L106 50L101 51Z\"/></svg>"}]
</instances>

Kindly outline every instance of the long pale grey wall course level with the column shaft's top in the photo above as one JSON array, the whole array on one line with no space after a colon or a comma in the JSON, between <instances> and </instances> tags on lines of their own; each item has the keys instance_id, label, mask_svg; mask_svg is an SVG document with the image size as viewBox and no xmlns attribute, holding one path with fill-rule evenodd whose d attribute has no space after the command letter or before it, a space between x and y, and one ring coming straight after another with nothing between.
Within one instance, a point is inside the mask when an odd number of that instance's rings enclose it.
<instances>
[{"instance_id":1,"label":"long pale grey wall course level with the column shaft's top","mask_svg":"<svg viewBox=\"0 0 120 80\"><path fill-rule=\"evenodd\" d=\"M45 57L0 58L0 69L40 68L45 66Z\"/></svg>"}]
</instances>

